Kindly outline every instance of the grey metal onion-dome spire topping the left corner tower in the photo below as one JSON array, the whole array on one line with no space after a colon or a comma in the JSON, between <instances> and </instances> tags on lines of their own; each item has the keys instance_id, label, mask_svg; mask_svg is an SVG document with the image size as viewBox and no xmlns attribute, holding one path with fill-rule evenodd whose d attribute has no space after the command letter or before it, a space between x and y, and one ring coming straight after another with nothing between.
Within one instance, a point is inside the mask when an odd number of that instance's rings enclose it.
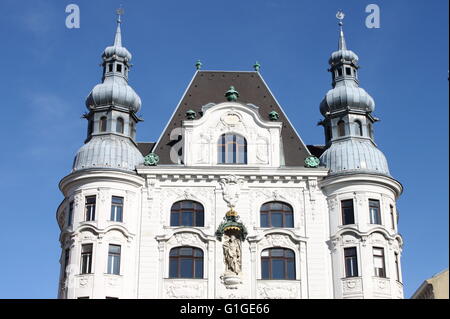
<instances>
[{"instance_id":1,"label":"grey metal onion-dome spire topping the left corner tower","mask_svg":"<svg viewBox=\"0 0 450 319\"><path fill-rule=\"evenodd\" d=\"M134 170L144 162L136 143L136 113L141 108L139 95L128 85L131 53L122 46L120 15L114 44L102 54L102 83L86 99L89 112L86 144L75 156L73 170L114 168Z\"/></svg>"}]
</instances>

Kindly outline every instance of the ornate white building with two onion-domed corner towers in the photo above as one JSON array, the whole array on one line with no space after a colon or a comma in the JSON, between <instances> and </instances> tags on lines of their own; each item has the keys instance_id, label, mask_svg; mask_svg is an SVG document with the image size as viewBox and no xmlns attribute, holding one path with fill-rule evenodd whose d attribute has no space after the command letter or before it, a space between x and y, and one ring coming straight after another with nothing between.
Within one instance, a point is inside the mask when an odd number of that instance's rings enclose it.
<instances>
[{"instance_id":1,"label":"ornate white building with two onion-domed corner towers","mask_svg":"<svg viewBox=\"0 0 450 319\"><path fill-rule=\"evenodd\" d=\"M159 139L136 141L131 53L102 55L87 138L59 187L59 298L403 298L401 184L374 142L339 13L325 145L306 145L259 72L197 62Z\"/></svg>"}]
</instances>

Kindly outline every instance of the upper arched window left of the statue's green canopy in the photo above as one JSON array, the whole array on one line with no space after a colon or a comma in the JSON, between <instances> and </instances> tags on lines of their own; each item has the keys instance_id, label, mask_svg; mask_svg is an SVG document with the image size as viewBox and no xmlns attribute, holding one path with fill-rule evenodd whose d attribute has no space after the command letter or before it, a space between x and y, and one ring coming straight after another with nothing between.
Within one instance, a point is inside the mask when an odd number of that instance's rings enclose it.
<instances>
[{"instance_id":1,"label":"upper arched window left of the statue's green canopy","mask_svg":"<svg viewBox=\"0 0 450 319\"><path fill-rule=\"evenodd\" d=\"M183 200L172 205L170 226L203 227L204 225L204 209L202 204L190 200Z\"/></svg>"}]
</instances>

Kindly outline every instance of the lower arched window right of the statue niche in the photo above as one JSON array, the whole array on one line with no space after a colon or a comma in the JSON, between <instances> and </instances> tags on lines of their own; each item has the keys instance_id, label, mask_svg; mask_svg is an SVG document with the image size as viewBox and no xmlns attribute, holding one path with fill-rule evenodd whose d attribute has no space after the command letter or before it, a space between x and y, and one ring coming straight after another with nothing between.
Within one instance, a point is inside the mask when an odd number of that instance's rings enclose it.
<instances>
[{"instance_id":1,"label":"lower arched window right of the statue niche","mask_svg":"<svg viewBox=\"0 0 450 319\"><path fill-rule=\"evenodd\" d=\"M295 280L295 254L287 248L269 248L261 253L261 279Z\"/></svg>"}]
</instances>

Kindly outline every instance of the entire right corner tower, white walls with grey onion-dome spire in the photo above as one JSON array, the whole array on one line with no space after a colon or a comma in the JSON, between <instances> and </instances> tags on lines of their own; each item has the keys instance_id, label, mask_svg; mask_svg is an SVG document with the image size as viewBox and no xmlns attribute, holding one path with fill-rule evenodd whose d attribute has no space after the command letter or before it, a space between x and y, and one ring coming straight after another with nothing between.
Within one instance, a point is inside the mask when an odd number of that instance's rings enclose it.
<instances>
[{"instance_id":1,"label":"entire right corner tower, white walls with grey onion-dome spire","mask_svg":"<svg viewBox=\"0 0 450 319\"><path fill-rule=\"evenodd\" d=\"M359 86L359 58L347 48L339 11L338 50L329 59L333 88L320 104L326 150L321 182L327 196L335 298L403 298L396 200L391 177L374 142L374 99Z\"/></svg>"}]
</instances>

